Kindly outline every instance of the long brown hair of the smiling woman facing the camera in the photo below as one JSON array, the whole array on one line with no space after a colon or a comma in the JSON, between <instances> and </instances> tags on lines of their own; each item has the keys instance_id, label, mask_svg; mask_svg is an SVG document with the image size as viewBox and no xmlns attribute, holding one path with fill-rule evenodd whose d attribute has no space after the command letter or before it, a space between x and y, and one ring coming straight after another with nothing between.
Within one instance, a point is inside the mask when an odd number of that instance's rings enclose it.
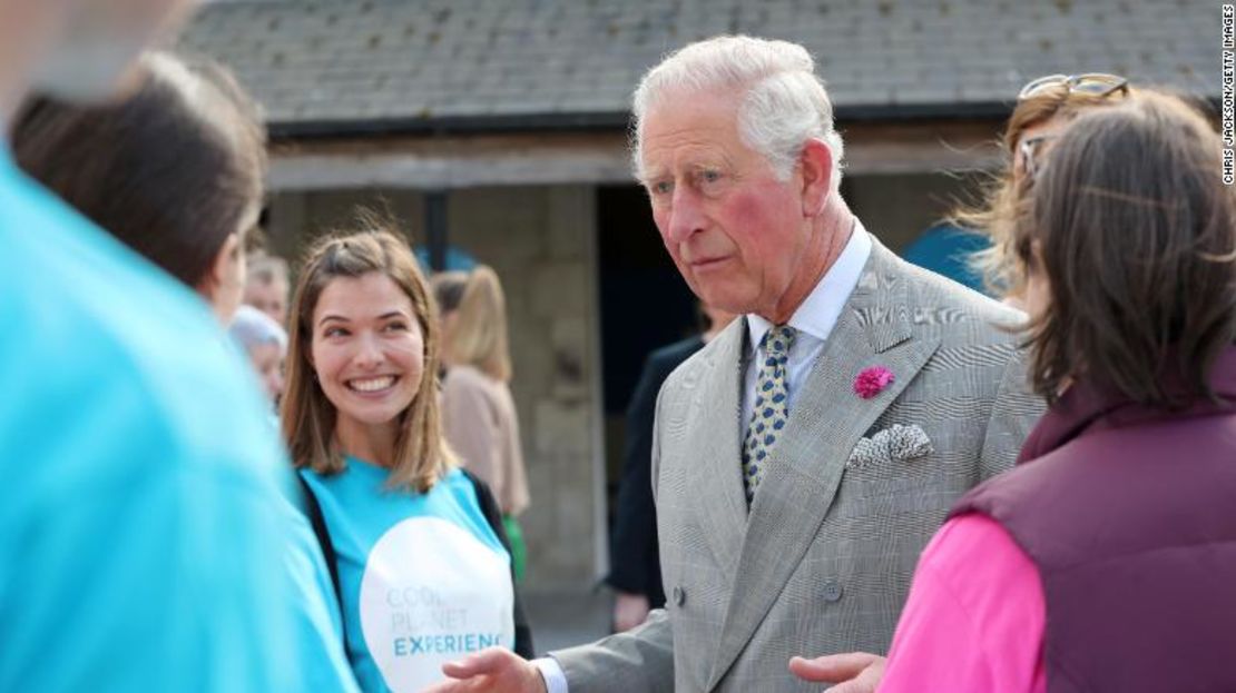
<instances>
[{"instance_id":1,"label":"long brown hair of the smiling woman facing the camera","mask_svg":"<svg viewBox=\"0 0 1236 693\"><path fill-rule=\"evenodd\" d=\"M436 309L408 243L375 215L362 212L361 220L366 231L318 241L300 269L292 299L287 389L279 411L283 436L297 467L309 467L319 474L334 474L346 468L335 441L335 405L323 393L309 361L313 313L323 290L334 279L381 273L412 301L425 350L420 387L412 404L399 415L389 484L423 493L456 466L455 455L442 436L438 403L440 357Z\"/></svg>"}]
</instances>

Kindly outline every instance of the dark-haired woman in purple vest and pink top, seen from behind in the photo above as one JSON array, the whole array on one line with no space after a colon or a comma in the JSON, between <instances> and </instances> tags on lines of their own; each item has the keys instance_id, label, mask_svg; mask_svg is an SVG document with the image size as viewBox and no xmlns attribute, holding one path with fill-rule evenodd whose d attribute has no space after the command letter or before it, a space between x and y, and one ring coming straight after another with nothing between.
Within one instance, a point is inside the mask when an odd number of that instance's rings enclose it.
<instances>
[{"instance_id":1,"label":"dark-haired woman in purple vest and pink top, seen from behind","mask_svg":"<svg viewBox=\"0 0 1236 693\"><path fill-rule=\"evenodd\" d=\"M887 662L833 691L1236 691L1236 190L1219 135L1142 91L1027 161L1017 467L923 552ZM886 668L885 668L886 667Z\"/></svg>"}]
</instances>

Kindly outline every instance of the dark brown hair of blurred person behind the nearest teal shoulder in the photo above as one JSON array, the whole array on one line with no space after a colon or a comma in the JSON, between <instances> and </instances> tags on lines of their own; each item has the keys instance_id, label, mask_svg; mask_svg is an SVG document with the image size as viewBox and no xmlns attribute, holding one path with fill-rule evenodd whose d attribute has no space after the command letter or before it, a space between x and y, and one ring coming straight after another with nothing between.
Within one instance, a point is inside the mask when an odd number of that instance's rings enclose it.
<instances>
[{"instance_id":1,"label":"dark brown hair of blurred person behind the nearest teal shoulder","mask_svg":"<svg viewBox=\"0 0 1236 693\"><path fill-rule=\"evenodd\" d=\"M262 198L266 136L224 68L148 53L105 106L38 98L14 126L30 175L190 287Z\"/></svg>"}]
</instances>

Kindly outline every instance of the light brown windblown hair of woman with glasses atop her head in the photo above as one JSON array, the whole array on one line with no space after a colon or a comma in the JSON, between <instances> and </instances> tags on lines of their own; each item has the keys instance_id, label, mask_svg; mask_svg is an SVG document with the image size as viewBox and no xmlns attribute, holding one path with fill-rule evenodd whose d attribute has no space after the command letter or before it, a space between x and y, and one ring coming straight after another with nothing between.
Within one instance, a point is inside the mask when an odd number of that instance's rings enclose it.
<instances>
[{"instance_id":1,"label":"light brown windblown hair of woman with glasses atop her head","mask_svg":"<svg viewBox=\"0 0 1236 693\"><path fill-rule=\"evenodd\" d=\"M991 247L974 253L970 262L994 294L1017 296L1026 284L1025 268L1018 263L1014 247L1014 225L1025 196L1025 188L1014 178L1014 163L1022 133L1057 116L1068 120L1094 106L1119 103L1112 96L1073 91L1062 84L1017 101L999 141L1005 166L983 183L981 200L976 205L960 206L950 216L950 221L979 231L991 240Z\"/></svg>"}]
</instances>

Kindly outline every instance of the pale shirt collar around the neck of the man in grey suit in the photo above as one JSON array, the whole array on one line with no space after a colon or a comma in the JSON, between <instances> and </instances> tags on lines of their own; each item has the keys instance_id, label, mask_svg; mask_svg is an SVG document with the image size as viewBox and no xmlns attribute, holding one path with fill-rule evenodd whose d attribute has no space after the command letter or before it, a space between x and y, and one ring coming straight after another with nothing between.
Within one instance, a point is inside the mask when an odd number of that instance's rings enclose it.
<instances>
[{"instance_id":1,"label":"pale shirt collar around the neck of the man in grey suit","mask_svg":"<svg viewBox=\"0 0 1236 693\"><path fill-rule=\"evenodd\" d=\"M790 316L789 325L800 335L810 335L816 340L824 341L832 334L840 317L845 301L849 300L859 278L863 277L863 268L866 259L871 257L871 237L858 219L854 220L854 231L849 241L842 248L842 254L837 256L833 266L819 279L816 288L807 294L798 310ZM759 348L764 341L764 335L772 329L772 324L764 317L748 314L747 330L751 338L751 351Z\"/></svg>"}]
</instances>

